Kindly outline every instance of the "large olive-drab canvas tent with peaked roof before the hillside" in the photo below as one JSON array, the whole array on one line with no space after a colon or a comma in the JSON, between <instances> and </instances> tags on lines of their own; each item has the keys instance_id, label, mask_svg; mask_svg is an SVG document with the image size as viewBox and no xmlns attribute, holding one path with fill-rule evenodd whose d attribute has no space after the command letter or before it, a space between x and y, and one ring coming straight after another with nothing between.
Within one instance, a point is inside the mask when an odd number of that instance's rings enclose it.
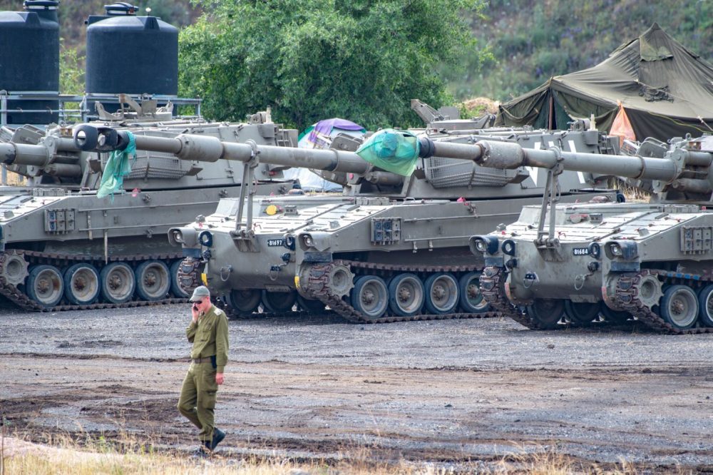
<instances>
[{"instance_id":1,"label":"large olive-drab canvas tent with peaked roof before the hillside","mask_svg":"<svg viewBox=\"0 0 713 475\"><path fill-rule=\"evenodd\" d=\"M600 131L628 122L638 140L712 133L713 66L653 24L597 66L501 104L496 125L566 129L592 114Z\"/></svg>"}]
</instances>

